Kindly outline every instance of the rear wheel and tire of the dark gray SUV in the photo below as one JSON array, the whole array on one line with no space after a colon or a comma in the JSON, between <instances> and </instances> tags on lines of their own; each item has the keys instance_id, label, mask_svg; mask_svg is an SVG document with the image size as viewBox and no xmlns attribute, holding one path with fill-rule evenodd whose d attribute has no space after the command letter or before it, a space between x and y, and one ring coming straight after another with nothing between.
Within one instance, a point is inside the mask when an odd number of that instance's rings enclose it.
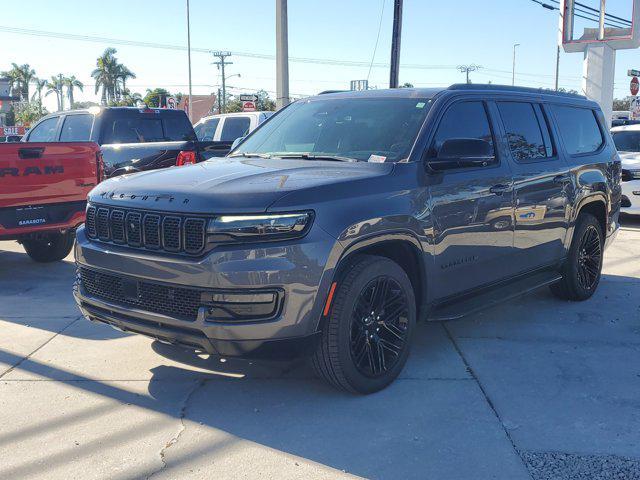
<instances>
[{"instance_id":1,"label":"rear wheel and tire of the dark gray SUV","mask_svg":"<svg viewBox=\"0 0 640 480\"><path fill-rule=\"evenodd\" d=\"M603 235L596 217L590 213L578 216L569 255L562 266L562 280L550 286L556 297L582 301L595 293L602 272Z\"/></svg>"}]
</instances>

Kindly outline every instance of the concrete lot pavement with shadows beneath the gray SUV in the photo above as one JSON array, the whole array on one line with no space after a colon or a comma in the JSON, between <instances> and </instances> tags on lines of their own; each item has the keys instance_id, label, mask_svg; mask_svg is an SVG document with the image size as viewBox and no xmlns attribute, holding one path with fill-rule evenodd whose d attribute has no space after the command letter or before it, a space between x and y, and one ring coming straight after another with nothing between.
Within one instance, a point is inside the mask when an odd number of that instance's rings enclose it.
<instances>
[{"instance_id":1,"label":"concrete lot pavement with shadows beneath the gray SUV","mask_svg":"<svg viewBox=\"0 0 640 480\"><path fill-rule=\"evenodd\" d=\"M80 318L73 259L0 242L0 478L640 478L640 222L597 294L422 325L367 397Z\"/></svg>"}]
</instances>

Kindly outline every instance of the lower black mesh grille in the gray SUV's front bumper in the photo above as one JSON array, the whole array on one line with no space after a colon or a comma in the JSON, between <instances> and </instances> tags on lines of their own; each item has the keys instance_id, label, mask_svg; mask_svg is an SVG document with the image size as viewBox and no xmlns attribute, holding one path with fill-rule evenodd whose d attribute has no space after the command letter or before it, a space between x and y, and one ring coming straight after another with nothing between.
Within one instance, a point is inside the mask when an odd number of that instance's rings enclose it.
<instances>
[{"instance_id":1,"label":"lower black mesh grille in the gray SUV's front bumper","mask_svg":"<svg viewBox=\"0 0 640 480\"><path fill-rule=\"evenodd\" d=\"M138 281L80 268L80 281L92 297L182 320L195 321L202 291Z\"/></svg>"}]
</instances>

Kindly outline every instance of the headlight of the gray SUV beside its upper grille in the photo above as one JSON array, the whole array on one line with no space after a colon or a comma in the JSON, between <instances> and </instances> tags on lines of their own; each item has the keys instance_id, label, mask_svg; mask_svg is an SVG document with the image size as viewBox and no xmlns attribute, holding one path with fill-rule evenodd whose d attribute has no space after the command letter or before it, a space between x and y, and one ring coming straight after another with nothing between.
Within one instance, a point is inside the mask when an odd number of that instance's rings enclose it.
<instances>
[{"instance_id":1,"label":"headlight of the gray SUV beside its upper grille","mask_svg":"<svg viewBox=\"0 0 640 480\"><path fill-rule=\"evenodd\" d=\"M212 242L255 242L301 237L311 226L312 214L222 215L209 221Z\"/></svg>"}]
</instances>

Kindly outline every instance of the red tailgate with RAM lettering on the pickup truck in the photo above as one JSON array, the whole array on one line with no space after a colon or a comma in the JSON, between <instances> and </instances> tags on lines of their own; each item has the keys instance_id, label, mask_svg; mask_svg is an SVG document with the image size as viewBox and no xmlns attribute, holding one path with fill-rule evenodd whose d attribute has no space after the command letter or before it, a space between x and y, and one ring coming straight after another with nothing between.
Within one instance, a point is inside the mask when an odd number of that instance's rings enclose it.
<instances>
[{"instance_id":1,"label":"red tailgate with RAM lettering on the pickup truck","mask_svg":"<svg viewBox=\"0 0 640 480\"><path fill-rule=\"evenodd\" d=\"M92 142L0 145L0 209L85 201L98 181L98 153Z\"/></svg>"}]
</instances>

